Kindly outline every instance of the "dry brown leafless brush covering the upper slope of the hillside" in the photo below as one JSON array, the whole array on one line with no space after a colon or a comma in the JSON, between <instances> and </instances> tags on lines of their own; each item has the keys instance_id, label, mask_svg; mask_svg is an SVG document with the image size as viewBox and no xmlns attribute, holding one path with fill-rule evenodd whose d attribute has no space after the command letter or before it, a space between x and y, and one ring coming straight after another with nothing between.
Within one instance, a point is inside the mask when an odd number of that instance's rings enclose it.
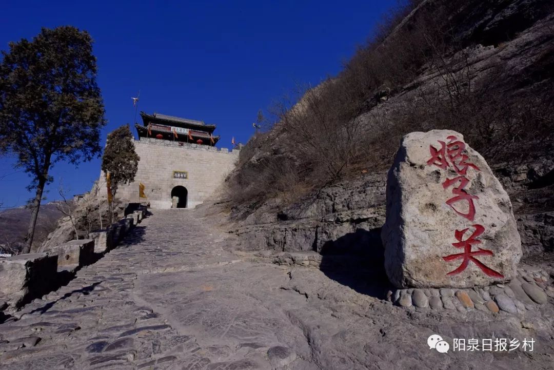
<instances>
[{"instance_id":1,"label":"dry brown leafless brush covering the upper slope of the hillside","mask_svg":"<svg viewBox=\"0 0 554 370\"><path fill-rule=\"evenodd\" d=\"M412 131L459 131L493 162L551 150L554 47L519 79L507 81L502 65L476 79L471 46L508 41L498 30L468 31L488 6L435 0L396 9L340 74L297 89L280 104L274 127L249 141L227 179L231 203L294 201L362 168L387 168L400 138ZM534 22L512 24L509 34ZM414 84L422 68L434 76L430 83L411 86L416 94L382 109L382 102Z\"/></svg>"}]
</instances>

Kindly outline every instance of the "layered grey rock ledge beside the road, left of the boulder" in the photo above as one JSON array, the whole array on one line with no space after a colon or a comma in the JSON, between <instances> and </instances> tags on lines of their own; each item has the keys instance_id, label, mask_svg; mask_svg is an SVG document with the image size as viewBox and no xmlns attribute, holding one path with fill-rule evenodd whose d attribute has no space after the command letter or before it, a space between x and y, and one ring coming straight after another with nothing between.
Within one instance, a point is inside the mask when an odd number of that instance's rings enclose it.
<instances>
[{"instance_id":1,"label":"layered grey rock ledge beside the road, left of the boulder","mask_svg":"<svg viewBox=\"0 0 554 370\"><path fill-rule=\"evenodd\" d=\"M361 245L357 241L380 244L385 183L384 174L338 183L278 212L260 209L234 232L242 236L241 245L247 250L336 254L344 253L347 245ZM262 217L254 217L260 211Z\"/></svg>"}]
</instances>

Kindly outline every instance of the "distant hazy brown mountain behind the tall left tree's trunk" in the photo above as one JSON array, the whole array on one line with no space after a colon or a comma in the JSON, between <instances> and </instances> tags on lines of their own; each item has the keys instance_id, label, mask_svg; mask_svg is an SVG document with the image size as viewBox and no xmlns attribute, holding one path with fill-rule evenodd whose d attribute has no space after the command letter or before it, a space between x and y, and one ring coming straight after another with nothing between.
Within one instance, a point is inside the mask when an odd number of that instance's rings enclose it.
<instances>
[{"instance_id":1,"label":"distant hazy brown mountain behind the tall left tree's trunk","mask_svg":"<svg viewBox=\"0 0 554 370\"><path fill-rule=\"evenodd\" d=\"M58 202L50 202L40 205L33 245L41 244L57 227L58 219L63 217L63 213L56 208L57 204ZM26 207L0 211L0 246L11 246L12 249L19 250L27 235L30 217L31 209Z\"/></svg>"}]
</instances>

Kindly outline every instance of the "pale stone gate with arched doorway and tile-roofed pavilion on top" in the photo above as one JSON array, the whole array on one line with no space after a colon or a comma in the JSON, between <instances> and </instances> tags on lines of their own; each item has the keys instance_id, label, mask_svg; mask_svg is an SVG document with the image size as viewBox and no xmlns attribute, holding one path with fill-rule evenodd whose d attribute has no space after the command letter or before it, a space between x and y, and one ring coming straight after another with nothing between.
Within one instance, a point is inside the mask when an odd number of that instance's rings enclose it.
<instances>
[{"instance_id":1,"label":"pale stone gate with arched doorway and tile-roofed pavilion on top","mask_svg":"<svg viewBox=\"0 0 554 370\"><path fill-rule=\"evenodd\" d=\"M215 125L156 113L140 115L143 124L135 124L139 169L134 182L117 189L122 201L140 200L152 208L194 208L234 169L239 151L214 146L219 140L213 136ZM139 199L139 183L146 199ZM100 189L106 193L103 173Z\"/></svg>"}]
</instances>

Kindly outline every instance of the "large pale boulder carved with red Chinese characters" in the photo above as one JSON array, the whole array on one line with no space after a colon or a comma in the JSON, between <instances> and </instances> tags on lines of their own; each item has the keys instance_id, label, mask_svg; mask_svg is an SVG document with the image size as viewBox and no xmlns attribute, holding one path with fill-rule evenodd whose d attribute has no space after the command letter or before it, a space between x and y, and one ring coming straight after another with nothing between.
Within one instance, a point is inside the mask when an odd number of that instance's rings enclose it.
<instances>
[{"instance_id":1,"label":"large pale boulder carved with red Chinese characters","mask_svg":"<svg viewBox=\"0 0 554 370\"><path fill-rule=\"evenodd\" d=\"M381 238L397 287L473 287L514 278L521 241L489 165L449 130L404 136L387 178Z\"/></svg>"}]
</instances>

